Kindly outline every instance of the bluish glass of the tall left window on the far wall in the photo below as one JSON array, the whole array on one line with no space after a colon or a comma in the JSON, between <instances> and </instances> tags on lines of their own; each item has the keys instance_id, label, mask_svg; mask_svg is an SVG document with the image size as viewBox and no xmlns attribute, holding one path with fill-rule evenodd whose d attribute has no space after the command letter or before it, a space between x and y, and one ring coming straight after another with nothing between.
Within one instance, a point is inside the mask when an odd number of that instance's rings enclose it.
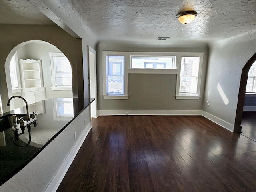
<instances>
[{"instance_id":1,"label":"bluish glass of the tall left window on the far wall","mask_svg":"<svg viewBox=\"0 0 256 192\"><path fill-rule=\"evenodd\" d=\"M124 56L106 56L107 94L124 94Z\"/></svg>"}]
</instances>

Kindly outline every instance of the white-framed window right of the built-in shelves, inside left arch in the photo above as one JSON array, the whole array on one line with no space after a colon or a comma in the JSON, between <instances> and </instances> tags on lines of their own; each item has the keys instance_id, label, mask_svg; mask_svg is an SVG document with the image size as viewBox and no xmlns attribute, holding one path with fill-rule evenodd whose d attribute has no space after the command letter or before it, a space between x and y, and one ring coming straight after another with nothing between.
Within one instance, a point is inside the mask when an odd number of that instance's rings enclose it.
<instances>
[{"instance_id":1,"label":"white-framed window right of the built-in shelves, inside left arch","mask_svg":"<svg viewBox=\"0 0 256 192\"><path fill-rule=\"evenodd\" d=\"M68 58L63 53L50 53L52 89L72 89L72 69Z\"/></svg>"}]
</instances>

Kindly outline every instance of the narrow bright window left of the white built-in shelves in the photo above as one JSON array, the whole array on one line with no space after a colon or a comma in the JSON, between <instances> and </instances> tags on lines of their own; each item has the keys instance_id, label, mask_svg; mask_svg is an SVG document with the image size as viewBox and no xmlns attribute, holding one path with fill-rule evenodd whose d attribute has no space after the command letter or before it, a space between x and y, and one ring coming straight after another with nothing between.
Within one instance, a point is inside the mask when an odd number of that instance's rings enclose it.
<instances>
[{"instance_id":1,"label":"narrow bright window left of the white built-in shelves","mask_svg":"<svg viewBox=\"0 0 256 192\"><path fill-rule=\"evenodd\" d=\"M20 74L18 70L17 52L12 56L10 61L10 78L12 84L12 92L20 92Z\"/></svg>"}]
</instances>

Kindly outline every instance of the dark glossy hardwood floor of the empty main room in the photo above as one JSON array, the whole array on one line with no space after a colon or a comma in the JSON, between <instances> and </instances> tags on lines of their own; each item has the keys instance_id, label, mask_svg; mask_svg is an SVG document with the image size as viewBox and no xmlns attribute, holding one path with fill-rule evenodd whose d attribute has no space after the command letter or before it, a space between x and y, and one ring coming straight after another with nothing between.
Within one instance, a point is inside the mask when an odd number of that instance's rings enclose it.
<instances>
[{"instance_id":1,"label":"dark glossy hardwood floor of the empty main room","mask_svg":"<svg viewBox=\"0 0 256 192\"><path fill-rule=\"evenodd\" d=\"M256 142L202 116L99 116L58 192L255 192Z\"/></svg>"}]
</instances>

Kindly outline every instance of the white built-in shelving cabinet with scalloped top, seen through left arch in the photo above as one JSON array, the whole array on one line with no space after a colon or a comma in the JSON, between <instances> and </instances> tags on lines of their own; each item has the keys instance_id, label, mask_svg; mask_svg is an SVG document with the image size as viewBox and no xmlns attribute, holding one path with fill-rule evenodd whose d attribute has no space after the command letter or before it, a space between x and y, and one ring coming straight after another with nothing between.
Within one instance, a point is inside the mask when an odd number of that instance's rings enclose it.
<instances>
[{"instance_id":1,"label":"white built-in shelving cabinet with scalloped top, seen through left arch","mask_svg":"<svg viewBox=\"0 0 256 192\"><path fill-rule=\"evenodd\" d=\"M45 90L42 79L42 63L40 60L20 59L22 76L22 96L28 104L45 99Z\"/></svg>"}]
</instances>

